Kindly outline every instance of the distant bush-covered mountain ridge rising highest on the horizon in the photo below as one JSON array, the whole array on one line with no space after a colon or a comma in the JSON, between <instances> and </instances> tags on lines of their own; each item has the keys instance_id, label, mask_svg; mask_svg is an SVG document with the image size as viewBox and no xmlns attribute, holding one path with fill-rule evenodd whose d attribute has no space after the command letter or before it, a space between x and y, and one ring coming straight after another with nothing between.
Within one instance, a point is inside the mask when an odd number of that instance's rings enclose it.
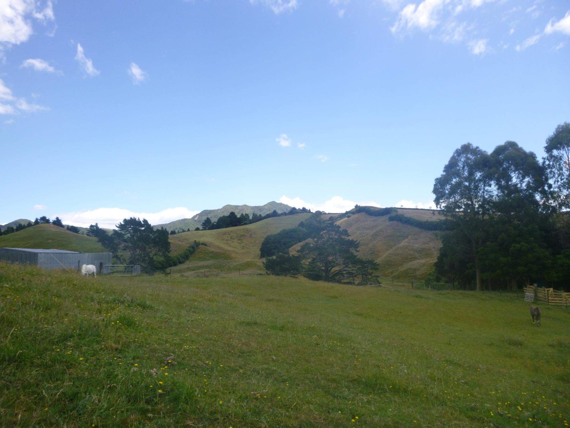
<instances>
[{"instance_id":1,"label":"distant bush-covered mountain ridge rising highest on the horizon","mask_svg":"<svg viewBox=\"0 0 570 428\"><path fill-rule=\"evenodd\" d=\"M167 231L186 231L190 229L193 231L197 227L202 227L202 221L206 220L206 217L210 217L211 221L216 221L221 216L227 216L230 212L235 212L235 214L239 217L241 214L249 214L250 216L255 212L259 215L266 215L274 210L278 213L287 212L291 209L287 204L282 204L280 202L271 201L265 205L224 205L222 208L218 209L204 209L200 211L197 215L190 219L180 219L170 221L170 223L164 224L154 224L153 227L155 229L164 227Z\"/></svg>"}]
</instances>

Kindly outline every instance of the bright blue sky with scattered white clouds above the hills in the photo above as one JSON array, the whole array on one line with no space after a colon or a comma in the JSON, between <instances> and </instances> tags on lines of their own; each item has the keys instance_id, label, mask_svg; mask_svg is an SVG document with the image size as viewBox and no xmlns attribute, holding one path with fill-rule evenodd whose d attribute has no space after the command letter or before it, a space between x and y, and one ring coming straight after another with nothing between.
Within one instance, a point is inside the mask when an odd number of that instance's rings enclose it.
<instances>
[{"instance_id":1,"label":"bright blue sky with scattered white clouds above the hills","mask_svg":"<svg viewBox=\"0 0 570 428\"><path fill-rule=\"evenodd\" d=\"M0 223L428 207L570 121L559 0L0 0Z\"/></svg>"}]
</instances>

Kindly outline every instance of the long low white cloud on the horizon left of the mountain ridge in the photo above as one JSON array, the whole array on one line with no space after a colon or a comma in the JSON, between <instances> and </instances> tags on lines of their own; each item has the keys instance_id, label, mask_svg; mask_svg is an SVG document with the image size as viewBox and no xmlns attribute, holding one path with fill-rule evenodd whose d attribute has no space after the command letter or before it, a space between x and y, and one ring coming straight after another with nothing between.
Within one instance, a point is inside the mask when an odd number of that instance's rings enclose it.
<instances>
[{"instance_id":1,"label":"long low white cloud on the horizon left of the mountain ridge","mask_svg":"<svg viewBox=\"0 0 570 428\"><path fill-rule=\"evenodd\" d=\"M114 229L117 224L129 217L138 217L141 220L146 219L150 224L162 224L174 220L189 219L198 212L200 211L190 211L184 207L168 208L156 213L133 212L122 208L97 208L89 211L61 213L57 214L57 216L65 224L89 227L90 224L99 223L99 227Z\"/></svg>"}]
</instances>

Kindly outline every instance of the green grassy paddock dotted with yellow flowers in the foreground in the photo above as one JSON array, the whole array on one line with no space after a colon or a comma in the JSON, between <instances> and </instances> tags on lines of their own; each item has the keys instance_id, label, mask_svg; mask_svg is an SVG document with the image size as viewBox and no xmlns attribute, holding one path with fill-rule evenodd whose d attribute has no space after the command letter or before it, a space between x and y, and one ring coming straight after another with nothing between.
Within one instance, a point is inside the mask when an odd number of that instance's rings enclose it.
<instances>
[{"instance_id":1,"label":"green grassy paddock dotted with yellow flowers in the foreground","mask_svg":"<svg viewBox=\"0 0 570 428\"><path fill-rule=\"evenodd\" d=\"M570 313L513 294L0 265L0 425L545 427Z\"/></svg>"}]
</instances>

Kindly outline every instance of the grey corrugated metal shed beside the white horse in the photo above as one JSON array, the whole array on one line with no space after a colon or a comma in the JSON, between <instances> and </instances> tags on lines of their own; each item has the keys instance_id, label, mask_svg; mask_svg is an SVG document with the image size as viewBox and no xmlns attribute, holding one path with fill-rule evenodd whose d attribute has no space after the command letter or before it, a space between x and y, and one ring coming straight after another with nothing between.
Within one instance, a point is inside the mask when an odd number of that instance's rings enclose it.
<instances>
[{"instance_id":1,"label":"grey corrugated metal shed beside the white horse","mask_svg":"<svg viewBox=\"0 0 570 428\"><path fill-rule=\"evenodd\" d=\"M111 253L79 253L60 249L0 248L0 261L37 265L44 269L75 269L82 265L94 265L103 272L104 265L111 264Z\"/></svg>"}]
</instances>

